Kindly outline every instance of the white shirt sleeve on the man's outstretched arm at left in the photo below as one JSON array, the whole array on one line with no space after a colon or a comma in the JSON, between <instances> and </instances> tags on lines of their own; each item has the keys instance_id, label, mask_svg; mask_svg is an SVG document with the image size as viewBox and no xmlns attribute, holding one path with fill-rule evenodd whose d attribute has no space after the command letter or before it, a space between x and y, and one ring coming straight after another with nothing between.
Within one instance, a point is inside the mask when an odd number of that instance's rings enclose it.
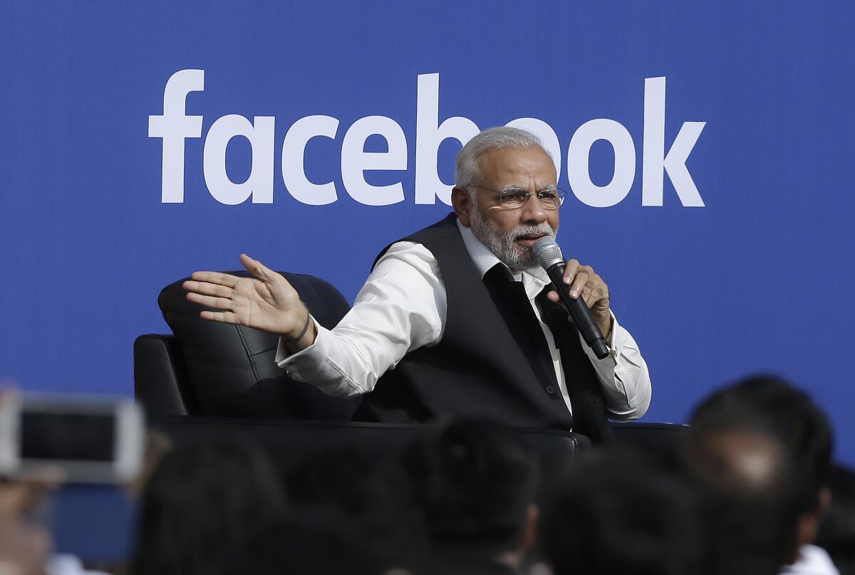
<instances>
[{"instance_id":1,"label":"white shirt sleeve on the man's outstretched arm at left","mask_svg":"<svg viewBox=\"0 0 855 575\"><path fill-rule=\"evenodd\" d=\"M310 347L288 355L280 341L276 363L298 381L332 396L368 393L410 350L442 337L447 301L439 264L421 243L386 250L332 330L315 321Z\"/></svg>"}]
</instances>

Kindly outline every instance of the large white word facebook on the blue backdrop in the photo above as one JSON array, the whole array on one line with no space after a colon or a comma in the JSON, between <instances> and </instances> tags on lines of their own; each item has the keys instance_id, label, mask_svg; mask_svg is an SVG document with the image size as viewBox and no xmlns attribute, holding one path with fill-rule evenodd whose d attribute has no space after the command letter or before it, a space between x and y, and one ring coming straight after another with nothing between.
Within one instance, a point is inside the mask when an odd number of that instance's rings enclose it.
<instances>
[{"instance_id":1,"label":"large white word facebook on the blue backdrop","mask_svg":"<svg viewBox=\"0 0 855 575\"><path fill-rule=\"evenodd\" d=\"M202 137L201 115L186 115L186 98L204 90L204 70L180 70L168 79L163 90L163 114L149 116L149 138L163 139L161 202L184 202L186 138ZM272 203L274 190L274 116L255 116L252 121L238 114L216 120L204 140L203 173L208 190L218 202L235 205L252 198L253 203ZM703 207L697 186L686 167L706 122L683 122L673 144L665 153L665 78L646 78L644 91L644 134L641 161L641 205L663 205L663 180L668 173L683 206ZM556 133L545 121L518 118L508 122L534 132L544 143L561 174L562 148ZM465 144L480 132L475 122L454 116L439 123L439 73L420 74L416 95L416 204L433 204L436 198L451 205L451 185L437 173L437 150L447 138ZM338 137L339 120L327 115L300 118L288 129L281 146L280 170L287 191L299 202L325 205L339 199L334 182L310 181L304 172L306 144L311 138ZM374 135L386 139L387 151L366 152L365 142ZM226 149L232 138L242 136L251 146L249 177L240 183L229 179ZM611 181L596 185L588 171L591 147L605 140L614 150L615 169ZM405 171L408 167L407 137L398 122L386 116L366 116L345 132L341 146L341 181L357 202L383 206L404 201L404 186L370 185L369 170ZM635 144L626 127L605 118L579 126L567 147L567 175L575 197L589 206L607 208L628 196L635 179Z\"/></svg>"}]
</instances>

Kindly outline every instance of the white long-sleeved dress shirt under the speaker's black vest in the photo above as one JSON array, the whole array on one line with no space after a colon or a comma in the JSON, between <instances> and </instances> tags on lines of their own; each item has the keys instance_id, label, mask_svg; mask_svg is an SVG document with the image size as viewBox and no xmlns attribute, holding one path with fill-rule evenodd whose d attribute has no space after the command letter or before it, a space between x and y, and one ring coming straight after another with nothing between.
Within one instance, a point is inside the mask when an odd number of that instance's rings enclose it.
<instances>
[{"instance_id":1,"label":"white long-sleeved dress shirt under the speaker's black vest","mask_svg":"<svg viewBox=\"0 0 855 575\"><path fill-rule=\"evenodd\" d=\"M483 278L500 263L498 258L459 220L457 227ZM567 408L572 410L561 355L551 330L540 320L540 308L534 300L550 280L540 267L516 274L516 280L522 281L540 321L561 394ZM288 355L280 342L276 363L290 377L309 382L332 396L368 393L377 379L393 369L404 355L439 343L446 312L445 284L430 250L421 243L393 243L374 266L353 308L339 325L327 330L315 321L315 343L293 355ZM612 319L611 335L606 342L610 348L608 357L598 360L584 341L582 348L600 379L610 417L634 420L644 415L650 405L650 375L633 337L618 325L614 315Z\"/></svg>"}]
</instances>

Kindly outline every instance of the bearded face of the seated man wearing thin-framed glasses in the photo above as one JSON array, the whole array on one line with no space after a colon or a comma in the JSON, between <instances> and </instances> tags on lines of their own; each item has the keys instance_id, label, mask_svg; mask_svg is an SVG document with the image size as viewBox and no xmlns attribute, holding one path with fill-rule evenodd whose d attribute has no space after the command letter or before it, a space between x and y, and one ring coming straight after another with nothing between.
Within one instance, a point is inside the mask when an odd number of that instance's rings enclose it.
<instances>
[{"instance_id":1,"label":"bearded face of the seated man wearing thin-framed glasses","mask_svg":"<svg viewBox=\"0 0 855 575\"><path fill-rule=\"evenodd\" d=\"M535 196L555 190L555 165L540 148L502 148L481 155L481 179L469 188L452 191L457 217L493 254L519 272L535 267L531 246L537 238L558 231L558 210L543 208ZM525 190L532 194L521 208L504 209L496 191Z\"/></svg>"}]
</instances>

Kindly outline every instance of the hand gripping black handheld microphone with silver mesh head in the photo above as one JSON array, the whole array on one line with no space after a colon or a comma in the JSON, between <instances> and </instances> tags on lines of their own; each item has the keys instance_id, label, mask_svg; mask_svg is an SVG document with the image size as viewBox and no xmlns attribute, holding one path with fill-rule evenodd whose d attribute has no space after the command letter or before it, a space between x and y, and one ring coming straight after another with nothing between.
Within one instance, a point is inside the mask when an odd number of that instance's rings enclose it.
<instances>
[{"instance_id":1,"label":"hand gripping black handheld microphone with silver mesh head","mask_svg":"<svg viewBox=\"0 0 855 575\"><path fill-rule=\"evenodd\" d=\"M575 262L578 269L575 271L573 284L565 284L565 275L573 276L565 273L568 268L567 263L561 254L561 248L551 236L544 236L534 242L532 253L555 285L560 301L567 307L585 343L593 349L598 359L607 357L609 348L605 344L603 329L608 332L610 326L609 288L604 284L603 279L594 273L590 266L578 266L577 262L571 260L571 263ZM573 270L571 269L570 272L572 273ZM571 291L576 292L575 298L570 295ZM594 320L587 302L597 306L598 317L602 324Z\"/></svg>"}]
</instances>

